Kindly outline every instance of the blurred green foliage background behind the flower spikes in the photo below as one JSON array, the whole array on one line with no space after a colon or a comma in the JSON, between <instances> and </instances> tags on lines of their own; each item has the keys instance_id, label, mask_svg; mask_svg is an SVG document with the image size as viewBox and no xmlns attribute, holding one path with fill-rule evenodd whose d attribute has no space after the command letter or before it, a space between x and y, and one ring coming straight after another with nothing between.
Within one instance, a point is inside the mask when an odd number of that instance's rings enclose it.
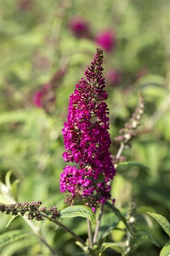
<instances>
[{"instance_id":1,"label":"blurred green foliage background behind the flower spikes","mask_svg":"<svg viewBox=\"0 0 170 256\"><path fill-rule=\"evenodd\" d=\"M122 73L119 86L107 86L112 141L130 118L138 102L138 90L145 99L145 115L132 148L123 155L129 161L148 166L119 166L113 180L115 206L127 211L132 195L136 206L150 206L153 211L169 217L170 211L170 116L169 116L169 10L168 0L32 0L30 9L21 10L17 0L1 0L1 94L0 94L0 177L4 181L11 169L12 180L19 179L18 201L43 201L43 205L63 207L65 195L59 192L59 176L65 163L62 125L67 116L69 95L81 79L95 54L96 43L77 39L68 28L71 17L80 15L88 20L92 35L102 29L116 34L113 52L104 51L104 71ZM46 65L41 65L41 60ZM64 80L56 90L57 102L53 115L32 104L34 92L65 63ZM141 78L142 68L147 74ZM111 153L119 145L113 141ZM3 199L1 198L1 201ZM7 202L5 202L7 203ZM0 233L24 229L27 224L16 218L5 228L8 216L0 215ZM34 222L34 221L33 221ZM146 215L138 228L148 230L160 248L168 241L156 221ZM81 218L64 219L86 239L86 222ZM76 225L75 225L76 223ZM50 223L38 223L49 244L61 256L71 256L80 249L63 230L54 230ZM153 225L154 224L154 225ZM114 241L124 234L113 231ZM130 256L159 255L160 248L146 243ZM40 241L30 236L1 248L1 255L49 255ZM107 249L103 255L113 254Z\"/></svg>"}]
</instances>

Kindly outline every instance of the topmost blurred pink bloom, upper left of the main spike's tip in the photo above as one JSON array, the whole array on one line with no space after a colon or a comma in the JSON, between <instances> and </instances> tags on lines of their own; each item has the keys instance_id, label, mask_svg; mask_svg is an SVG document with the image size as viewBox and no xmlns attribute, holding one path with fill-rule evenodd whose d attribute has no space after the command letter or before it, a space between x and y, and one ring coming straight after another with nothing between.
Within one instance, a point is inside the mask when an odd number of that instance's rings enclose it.
<instances>
[{"instance_id":1,"label":"topmost blurred pink bloom, upper left of the main spike's tip","mask_svg":"<svg viewBox=\"0 0 170 256\"><path fill-rule=\"evenodd\" d=\"M81 16L74 16L69 21L69 28L77 38L89 38L89 26L87 20Z\"/></svg>"}]
</instances>

